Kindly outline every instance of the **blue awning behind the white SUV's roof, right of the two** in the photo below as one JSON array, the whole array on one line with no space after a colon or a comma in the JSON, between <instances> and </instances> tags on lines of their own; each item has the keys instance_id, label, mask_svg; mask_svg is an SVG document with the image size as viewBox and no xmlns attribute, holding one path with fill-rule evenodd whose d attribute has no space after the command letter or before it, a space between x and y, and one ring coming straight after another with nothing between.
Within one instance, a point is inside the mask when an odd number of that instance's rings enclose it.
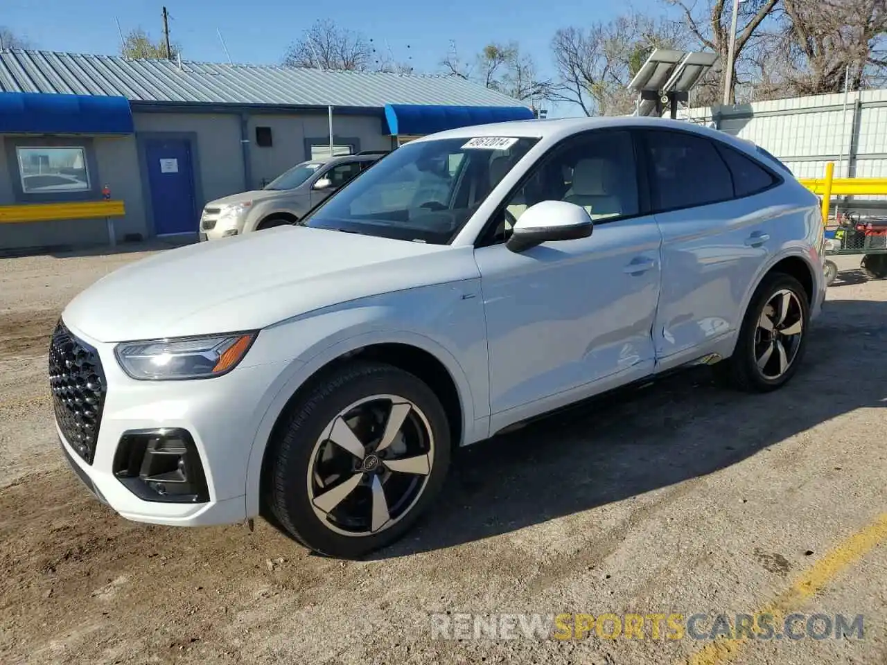
<instances>
[{"instance_id":1,"label":"blue awning behind the white SUV's roof, right of the two","mask_svg":"<svg viewBox=\"0 0 887 665\"><path fill-rule=\"evenodd\" d=\"M391 136L426 136L490 122L531 120L526 106L425 106L386 104L385 121Z\"/></svg>"}]
</instances>

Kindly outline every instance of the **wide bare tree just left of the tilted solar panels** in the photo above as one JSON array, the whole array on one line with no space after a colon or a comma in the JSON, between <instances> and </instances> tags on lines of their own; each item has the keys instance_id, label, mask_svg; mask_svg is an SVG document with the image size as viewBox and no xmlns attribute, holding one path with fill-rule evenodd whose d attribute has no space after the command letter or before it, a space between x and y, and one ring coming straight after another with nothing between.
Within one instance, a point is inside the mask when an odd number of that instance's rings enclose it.
<instances>
[{"instance_id":1,"label":"wide bare tree just left of the tilted solar panels","mask_svg":"<svg viewBox=\"0 0 887 665\"><path fill-rule=\"evenodd\" d=\"M585 115L631 113L627 85L650 52L683 42L679 24L638 12L587 29L562 28L552 40L558 82L550 98L576 104Z\"/></svg>"}]
</instances>

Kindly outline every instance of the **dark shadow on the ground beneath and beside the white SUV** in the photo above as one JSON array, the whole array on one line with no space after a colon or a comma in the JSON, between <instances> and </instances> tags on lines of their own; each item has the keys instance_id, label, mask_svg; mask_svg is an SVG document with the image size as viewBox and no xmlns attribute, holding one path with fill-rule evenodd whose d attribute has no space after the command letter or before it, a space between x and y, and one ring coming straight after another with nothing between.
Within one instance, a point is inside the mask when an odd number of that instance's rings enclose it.
<instances>
[{"instance_id":1,"label":"dark shadow on the ground beneath and beside the white SUV","mask_svg":"<svg viewBox=\"0 0 887 665\"><path fill-rule=\"evenodd\" d=\"M828 419L887 406L887 302L828 301L803 364L766 395L697 367L456 451L420 525L389 559L498 536L734 465ZM887 415L887 414L885 414Z\"/></svg>"}]
</instances>

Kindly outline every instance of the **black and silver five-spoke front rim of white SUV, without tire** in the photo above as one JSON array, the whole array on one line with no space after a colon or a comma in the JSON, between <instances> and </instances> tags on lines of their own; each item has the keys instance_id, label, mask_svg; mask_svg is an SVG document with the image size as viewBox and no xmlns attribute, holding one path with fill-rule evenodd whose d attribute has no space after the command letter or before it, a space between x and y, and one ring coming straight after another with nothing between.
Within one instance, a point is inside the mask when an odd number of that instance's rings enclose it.
<instances>
[{"instance_id":1,"label":"black and silver five-spoke front rim of white SUV, without tire","mask_svg":"<svg viewBox=\"0 0 887 665\"><path fill-rule=\"evenodd\" d=\"M435 438L420 408L399 395L371 395L343 409L311 454L308 494L318 518L343 536L390 528L419 500Z\"/></svg>"}]
</instances>

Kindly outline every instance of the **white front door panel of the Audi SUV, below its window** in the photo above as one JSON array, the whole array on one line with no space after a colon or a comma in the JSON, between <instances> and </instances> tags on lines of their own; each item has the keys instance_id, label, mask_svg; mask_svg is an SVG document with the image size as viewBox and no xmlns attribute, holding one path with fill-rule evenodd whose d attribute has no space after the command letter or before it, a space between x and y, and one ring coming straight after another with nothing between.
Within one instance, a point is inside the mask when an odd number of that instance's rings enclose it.
<instances>
[{"instance_id":1,"label":"white front door panel of the Audi SUV, below its window","mask_svg":"<svg viewBox=\"0 0 887 665\"><path fill-rule=\"evenodd\" d=\"M476 251L494 414L520 410L503 420L526 418L548 411L561 393L611 374L653 372L659 245L649 215L521 254L503 245ZM592 272L606 278L588 279Z\"/></svg>"}]
</instances>

